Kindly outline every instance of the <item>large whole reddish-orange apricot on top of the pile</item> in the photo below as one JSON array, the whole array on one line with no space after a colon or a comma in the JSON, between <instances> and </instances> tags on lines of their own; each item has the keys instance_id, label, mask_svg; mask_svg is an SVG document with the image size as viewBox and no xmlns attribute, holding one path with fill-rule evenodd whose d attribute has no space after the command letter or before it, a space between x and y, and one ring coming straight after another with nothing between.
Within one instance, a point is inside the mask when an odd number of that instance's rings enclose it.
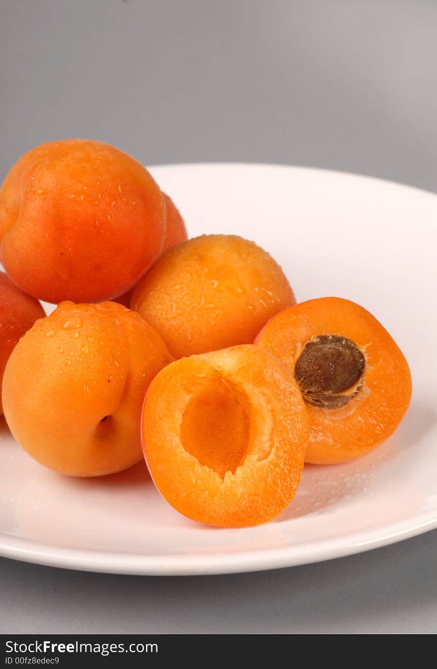
<instances>
[{"instance_id":1,"label":"large whole reddish-orange apricot on top of the pile","mask_svg":"<svg viewBox=\"0 0 437 669\"><path fill-rule=\"evenodd\" d=\"M0 189L0 259L47 302L96 302L132 288L161 252L161 190L130 156L82 139L26 153Z\"/></svg>"}]
</instances>

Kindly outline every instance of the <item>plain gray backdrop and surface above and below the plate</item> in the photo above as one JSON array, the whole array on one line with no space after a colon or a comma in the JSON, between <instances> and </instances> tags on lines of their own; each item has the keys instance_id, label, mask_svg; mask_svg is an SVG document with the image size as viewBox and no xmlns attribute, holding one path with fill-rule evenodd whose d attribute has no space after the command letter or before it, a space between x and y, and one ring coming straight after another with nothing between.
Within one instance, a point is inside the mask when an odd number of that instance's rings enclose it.
<instances>
[{"instance_id":1,"label":"plain gray backdrop and surface above and below the plate","mask_svg":"<svg viewBox=\"0 0 437 669\"><path fill-rule=\"evenodd\" d=\"M0 0L0 177L86 136L144 163L261 161L436 189L435 0ZM437 532L266 573L0 561L0 632L437 632Z\"/></svg>"}]
</instances>

